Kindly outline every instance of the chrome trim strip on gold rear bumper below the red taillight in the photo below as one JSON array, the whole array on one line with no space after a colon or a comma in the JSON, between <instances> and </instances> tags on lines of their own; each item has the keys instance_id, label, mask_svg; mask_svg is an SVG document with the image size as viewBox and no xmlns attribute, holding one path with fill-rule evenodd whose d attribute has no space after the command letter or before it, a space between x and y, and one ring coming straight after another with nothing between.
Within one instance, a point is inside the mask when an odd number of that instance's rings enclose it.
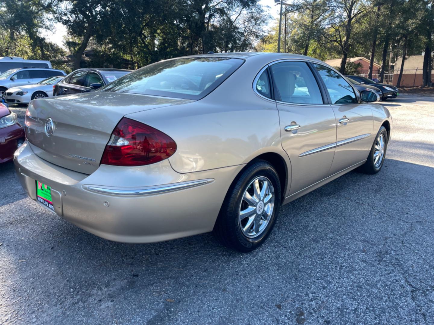
<instances>
[{"instance_id":1,"label":"chrome trim strip on gold rear bumper below the red taillight","mask_svg":"<svg viewBox=\"0 0 434 325\"><path fill-rule=\"evenodd\" d=\"M147 188L135 188L135 189L106 188L106 187L99 187L97 185L84 185L83 188L92 192L98 192L101 194L109 194L109 195L122 195L122 196L156 195L156 194L175 192L175 191L180 191L182 189L201 186L213 181L214 179L198 179L189 182L171 183L166 185L158 185L158 186L152 186Z\"/></svg>"}]
</instances>

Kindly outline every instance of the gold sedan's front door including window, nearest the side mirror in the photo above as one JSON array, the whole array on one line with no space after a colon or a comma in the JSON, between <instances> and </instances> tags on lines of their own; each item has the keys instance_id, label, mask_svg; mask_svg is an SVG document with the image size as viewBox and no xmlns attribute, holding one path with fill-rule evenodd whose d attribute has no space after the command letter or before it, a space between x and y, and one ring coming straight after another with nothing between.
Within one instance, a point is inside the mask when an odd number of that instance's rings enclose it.
<instances>
[{"instance_id":1,"label":"gold sedan's front door including window, nearest the side mirror","mask_svg":"<svg viewBox=\"0 0 434 325\"><path fill-rule=\"evenodd\" d=\"M313 66L324 82L336 117L336 151L330 170L334 174L368 157L374 120L370 105L359 103L345 78L325 65L315 63Z\"/></svg>"}]
</instances>

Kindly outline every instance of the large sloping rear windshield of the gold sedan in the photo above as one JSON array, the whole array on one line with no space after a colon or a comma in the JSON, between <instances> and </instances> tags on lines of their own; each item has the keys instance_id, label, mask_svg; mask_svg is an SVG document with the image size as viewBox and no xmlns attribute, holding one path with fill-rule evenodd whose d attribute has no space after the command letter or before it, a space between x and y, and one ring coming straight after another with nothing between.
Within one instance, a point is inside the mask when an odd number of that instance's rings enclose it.
<instances>
[{"instance_id":1,"label":"large sloping rear windshield of the gold sedan","mask_svg":"<svg viewBox=\"0 0 434 325\"><path fill-rule=\"evenodd\" d=\"M178 58L161 61L125 75L101 88L101 91L201 99L243 62L238 58Z\"/></svg>"}]
</instances>

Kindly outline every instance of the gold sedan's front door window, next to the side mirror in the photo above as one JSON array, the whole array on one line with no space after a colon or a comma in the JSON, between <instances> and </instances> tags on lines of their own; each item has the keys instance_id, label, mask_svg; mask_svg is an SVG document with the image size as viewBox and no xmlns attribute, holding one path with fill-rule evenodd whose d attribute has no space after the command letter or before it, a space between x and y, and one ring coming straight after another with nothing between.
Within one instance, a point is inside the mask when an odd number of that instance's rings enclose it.
<instances>
[{"instance_id":1,"label":"gold sedan's front door window, next to the side mirror","mask_svg":"<svg viewBox=\"0 0 434 325\"><path fill-rule=\"evenodd\" d=\"M353 88L336 71L327 68L325 65L314 64L325 83L325 88L329 92L332 104L353 104L358 103Z\"/></svg>"}]
</instances>

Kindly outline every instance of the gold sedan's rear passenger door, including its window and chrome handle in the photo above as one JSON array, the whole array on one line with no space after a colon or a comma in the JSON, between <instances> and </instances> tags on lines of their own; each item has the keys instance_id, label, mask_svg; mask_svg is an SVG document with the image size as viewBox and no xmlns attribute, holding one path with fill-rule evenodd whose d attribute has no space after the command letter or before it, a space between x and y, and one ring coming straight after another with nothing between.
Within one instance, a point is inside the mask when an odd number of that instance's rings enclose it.
<instances>
[{"instance_id":1,"label":"gold sedan's rear passenger door, including its window and chrome handle","mask_svg":"<svg viewBox=\"0 0 434 325\"><path fill-rule=\"evenodd\" d=\"M285 60L270 65L280 118L283 149L289 156L292 181L289 195L327 176L336 142L332 107L306 62Z\"/></svg>"}]
</instances>

